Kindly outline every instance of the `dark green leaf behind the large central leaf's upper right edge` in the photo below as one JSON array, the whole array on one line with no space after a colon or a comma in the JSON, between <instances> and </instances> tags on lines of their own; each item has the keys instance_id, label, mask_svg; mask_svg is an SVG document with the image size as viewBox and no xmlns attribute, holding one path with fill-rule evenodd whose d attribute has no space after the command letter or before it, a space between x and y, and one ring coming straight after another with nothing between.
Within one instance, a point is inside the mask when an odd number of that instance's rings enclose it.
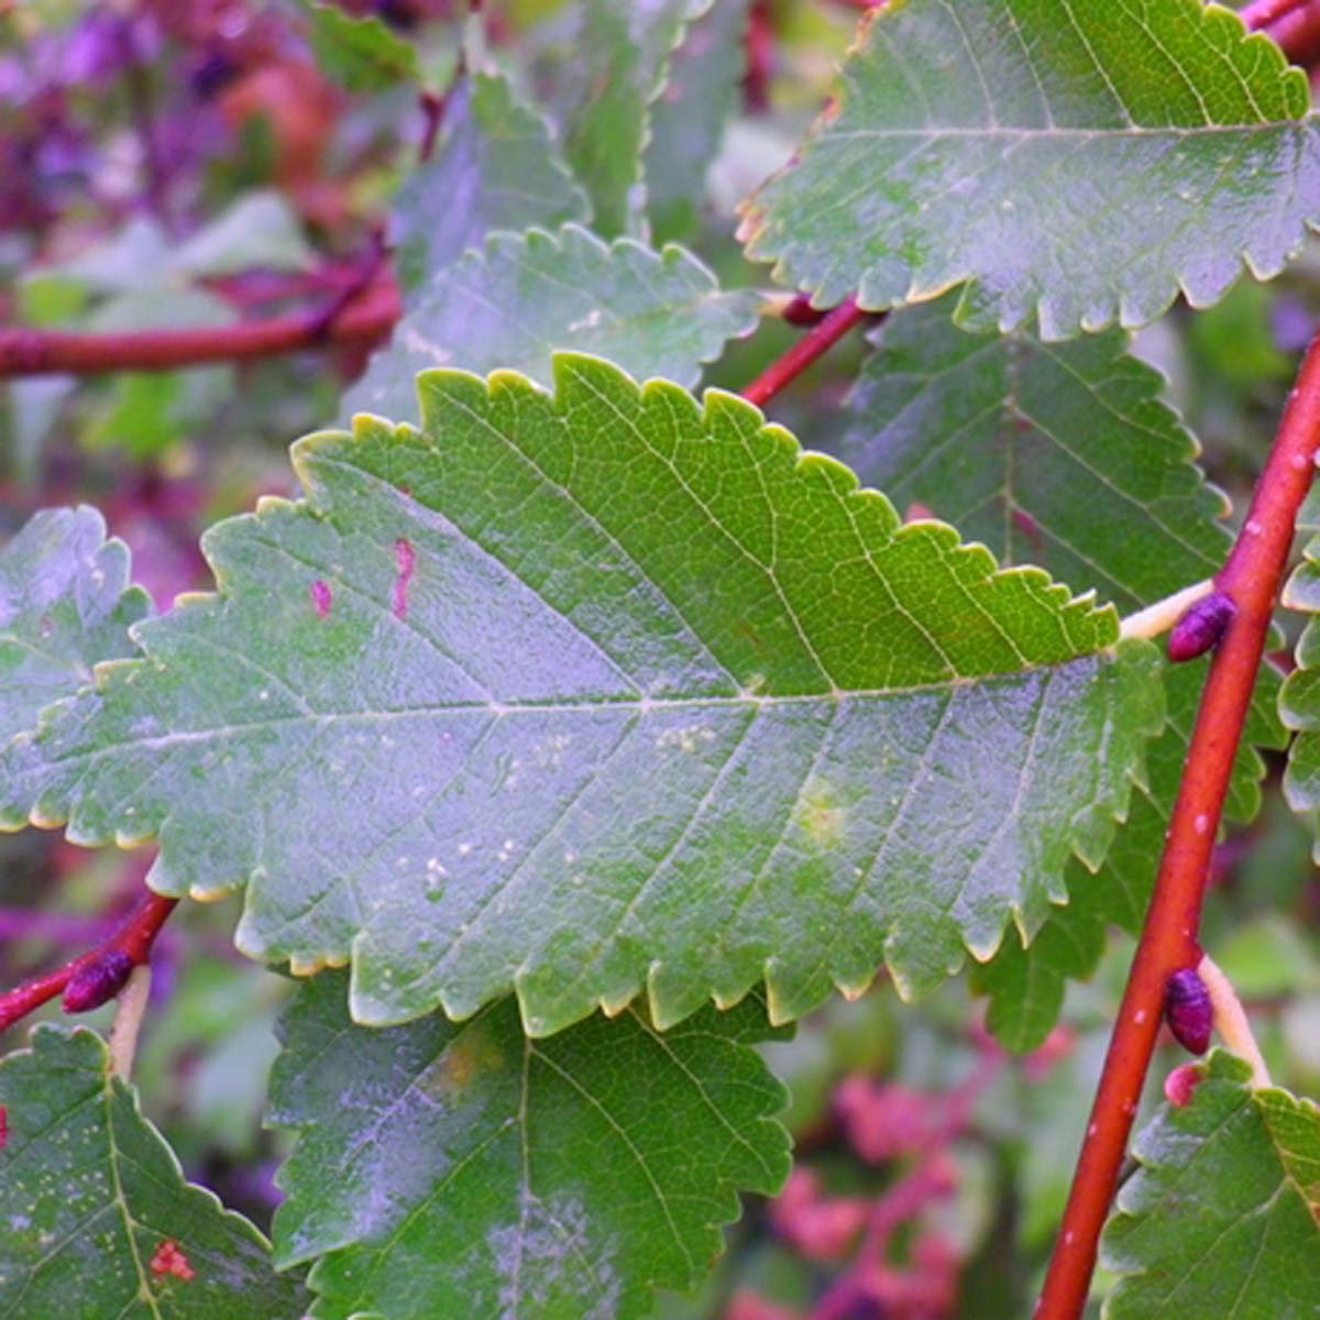
<instances>
[{"instance_id":1,"label":"dark green leaf behind the large central leaf's upper right edge","mask_svg":"<svg viewBox=\"0 0 1320 1320\"><path fill-rule=\"evenodd\" d=\"M921 504L1123 614L1217 573L1228 502L1129 337L965 334L956 301L875 331L840 458L898 508Z\"/></svg>"}]
</instances>

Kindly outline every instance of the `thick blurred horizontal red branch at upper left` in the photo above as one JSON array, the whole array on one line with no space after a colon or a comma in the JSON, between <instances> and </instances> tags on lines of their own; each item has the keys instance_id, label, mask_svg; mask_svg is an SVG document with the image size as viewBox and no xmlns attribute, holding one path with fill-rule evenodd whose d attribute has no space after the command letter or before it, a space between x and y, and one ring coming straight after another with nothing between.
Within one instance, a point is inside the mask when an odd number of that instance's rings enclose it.
<instances>
[{"instance_id":1,"label":"thick blurred horizontal red branch at upper left","mask_svg":"<svg viewBox=\"0 0 1320 1320\"><path fill-rule=\"evenodd\" d=\"M378 281L326 325L323 314L275 317L206 330L67 334L0 330L0 379L54 372L172 371L207 362L251 362L321 345L375 343L399 319L399 292Z\"/></svg>"}]
</instances>

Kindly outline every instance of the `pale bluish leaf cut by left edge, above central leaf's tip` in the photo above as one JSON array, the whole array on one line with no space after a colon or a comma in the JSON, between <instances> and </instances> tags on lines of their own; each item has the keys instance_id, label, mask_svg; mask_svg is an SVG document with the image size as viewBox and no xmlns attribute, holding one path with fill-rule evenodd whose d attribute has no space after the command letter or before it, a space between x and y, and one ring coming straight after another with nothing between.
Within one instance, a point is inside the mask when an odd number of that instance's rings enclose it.
<instances>
[{"instance_id":1,"label":"pale bluish leaf cut by left edge, above central leaf's tip","mask_svg":"<svg viewBox=\"0 0 1320 1320\"><path fill-rule=\"evenodd\" d=\"M128 546L94 508L49 510L0 548L0 743L36 729L44 706L131 656L129 624L150 612L128 585Z\"/></svg>"}]
</instances>

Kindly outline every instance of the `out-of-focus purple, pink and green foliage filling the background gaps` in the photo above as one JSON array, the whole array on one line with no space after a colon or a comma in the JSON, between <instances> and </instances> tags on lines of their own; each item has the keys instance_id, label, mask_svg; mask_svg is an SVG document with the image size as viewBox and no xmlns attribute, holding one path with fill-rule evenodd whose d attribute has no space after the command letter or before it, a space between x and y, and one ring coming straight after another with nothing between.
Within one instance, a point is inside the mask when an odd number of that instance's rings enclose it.
<instances>
[{"instance_id":1,"label":"out-of-focus purple, pink and green foliage filling the background gaps","mask_svg":"<svg viewBox=\"0 0 1320 1320\"><path fill-rule=\"evenodd\" d=\"M743 67L704 205L667 211L656 236L686 243L726 288L755 288L767 275L734 240L737 203L825 103L861 7L738 3ZM566 9L504 0L480 20L491 58L532 81L543 106L572 73ZM334 26L368 15L399 38L384 57L355 57ZM0 322L172 330L333 308L379 263L391 199L454 74L465 20L466 5L445 0L356 0L329 13L293 0L0 7ZM1176 306L1137 338L1237 507L1317 319L1312 238L1274 282L1239 282L1195 315ZM742 388L799 334L766 318L706 383ZM775 418L829 449L865 351L861 335L842 343L776 399ZM94 503L165 609L210 585L199 532L290 487L289 441L334 422L364 362L360 348L319 348L11 380L0 387L0 536L36 508ZM1249 1001L1276 1080L1316 1093L1320 883L1303 828L1278 793L1266 800L1218 847L1206 942ZM0 837L0 985L100 937L148 862L51 833ZM279 1150L261 1109L289 983L234 952L234 900L187 904L180 917L158 946L141 1090L189 1176L268 1224ZM748 1203L701 1296L663 1299L664 1320L1027 1315L1130 952L1127 937L1111 940L1027 1059L989 1040L965 986L913 1008L883 978L766 1047L792 1088L797 1170L777 1201ZM0 1041L18 1044L18 1031ZM1181 1057L1162 1047L1155 1096ZM886 1280L883 1309L874 1290L867 1300L853 1288L859 1262Z\"/></svg>"}]
</instances>

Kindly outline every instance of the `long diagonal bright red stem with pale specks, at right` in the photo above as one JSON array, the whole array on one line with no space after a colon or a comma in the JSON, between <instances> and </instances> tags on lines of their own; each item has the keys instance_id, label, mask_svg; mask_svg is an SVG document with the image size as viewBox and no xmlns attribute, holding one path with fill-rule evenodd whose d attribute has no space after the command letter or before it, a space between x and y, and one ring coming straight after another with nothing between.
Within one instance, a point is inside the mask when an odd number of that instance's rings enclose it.
<instances>
[{"instance_id":1,"label":"long diagonal bright red stem with pale specks, at right","mask_svg":"<svg viewBox=\"0 0 1320 1320\"><path fill-rule=\"evenodd\" d=\"M1082 1313L1100 1232L1160 1028L1164 987L1172 973L1195 968L1201 957L1197 933L1214 834L1317 449L1320 334L1307 350L1246 521L1216 578L1237 614L1201 693L1155 894L1114 1023L1038 1320L1076 1320Z\"/></svg>"}]
</instances>

